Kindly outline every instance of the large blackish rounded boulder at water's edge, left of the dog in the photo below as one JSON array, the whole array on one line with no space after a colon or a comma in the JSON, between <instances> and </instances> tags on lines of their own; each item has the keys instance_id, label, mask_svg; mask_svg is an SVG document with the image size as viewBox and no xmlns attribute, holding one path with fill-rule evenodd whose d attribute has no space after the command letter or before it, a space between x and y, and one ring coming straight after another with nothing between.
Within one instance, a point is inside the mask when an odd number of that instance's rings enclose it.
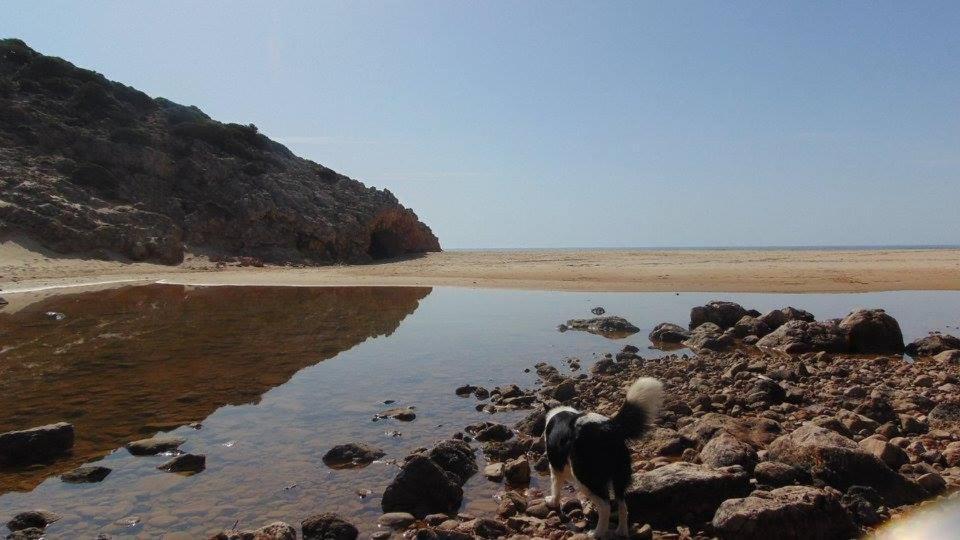
<instances>
[{"instance_id":1,"label":"large blackish rounded boulder at water's edge, left of the dog","mask_svg":"<svg viewBox=\"0 0 960 540\"><path fill-rule=\"evenodd\" d=\"M454 513L463 501L460 478L422 454L413 455L383 492L384 512Z\"/></svg>"}]
</instances>

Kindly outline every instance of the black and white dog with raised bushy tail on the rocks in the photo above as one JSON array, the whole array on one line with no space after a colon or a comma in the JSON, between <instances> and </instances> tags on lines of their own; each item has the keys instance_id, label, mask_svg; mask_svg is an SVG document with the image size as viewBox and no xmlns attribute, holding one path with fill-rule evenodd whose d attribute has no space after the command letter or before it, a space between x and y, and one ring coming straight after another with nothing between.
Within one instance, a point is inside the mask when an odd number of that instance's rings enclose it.
<instances>
[{"instance_id":1,"label":"black and white dog with raised bushy tail on the rocks","mask_svg":"<svg viewBox=\"0 0 960 540\"><path fill-rule=\"evenodd\" d=\"M627 536L627 503L632 467L626 441L640 438L656 418L663 402L663 385L651 378L637 379L627 391L620 410L607 418L572 407L556 407L547 413L547 459L550 461L550 496L547 504L560 502L564 482L573 480L599 514L593 535L603 538L610 528L610 510L617 502L617 535Z\"/></svg>"}]
</instances>

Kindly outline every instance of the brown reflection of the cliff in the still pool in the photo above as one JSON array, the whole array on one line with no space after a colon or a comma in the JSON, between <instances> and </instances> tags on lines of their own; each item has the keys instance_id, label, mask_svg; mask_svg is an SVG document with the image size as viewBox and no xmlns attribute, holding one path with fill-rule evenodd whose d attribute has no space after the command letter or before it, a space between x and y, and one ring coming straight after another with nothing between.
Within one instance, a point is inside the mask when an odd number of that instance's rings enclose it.
<instances>
[{"instance_id":1,"label":"brown reflection of the cliff in the still pool","mask_svg":"<svg viewBox=\"0 0 960 540\"><path fill-rule=\"evenodd\" d=\"M256 403L298 370L393 333L430 291L150 285L0 312L0 432L66 420L77 433L72 456L0 472L0 493Z\"/></svg>"}]
</instances>

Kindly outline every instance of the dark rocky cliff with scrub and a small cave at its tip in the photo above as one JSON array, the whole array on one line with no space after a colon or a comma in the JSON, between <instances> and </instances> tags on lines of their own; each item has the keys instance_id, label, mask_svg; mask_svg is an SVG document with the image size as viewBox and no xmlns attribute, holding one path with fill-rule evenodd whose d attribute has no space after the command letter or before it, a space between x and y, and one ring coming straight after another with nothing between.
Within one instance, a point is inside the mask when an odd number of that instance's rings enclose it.
<instances>
[{"instance_id":1,"label":"dark rocky cliff with scrub and a small cave at its tip","mask_svg":"<svg viewBox=\"0 0 960 540\"><path fill-rule=\"evenodd\" d=\"M439 251L412 210L257 132L0 40L0 233L176 264Z\"/></svg>"}]
</instances>

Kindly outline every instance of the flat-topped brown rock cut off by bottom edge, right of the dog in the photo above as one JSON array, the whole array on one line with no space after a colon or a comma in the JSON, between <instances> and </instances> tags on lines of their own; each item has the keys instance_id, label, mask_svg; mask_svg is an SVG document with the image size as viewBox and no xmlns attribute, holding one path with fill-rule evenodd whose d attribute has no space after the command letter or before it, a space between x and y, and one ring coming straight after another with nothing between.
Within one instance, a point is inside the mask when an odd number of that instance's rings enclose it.
<instances>
[{"instance_id":1,"label":"flat-topped brown rock cut off by bottom edge, right of the dog","mask_svg":"<svg viewBox=\"0 0 960 540\"><path fill-rule=\"evenodd\" d=\"M858 536L839 494L807 486L756 491L724 501L712 525L722 538L832 540Z\"/></svg>"}]
</instances>

